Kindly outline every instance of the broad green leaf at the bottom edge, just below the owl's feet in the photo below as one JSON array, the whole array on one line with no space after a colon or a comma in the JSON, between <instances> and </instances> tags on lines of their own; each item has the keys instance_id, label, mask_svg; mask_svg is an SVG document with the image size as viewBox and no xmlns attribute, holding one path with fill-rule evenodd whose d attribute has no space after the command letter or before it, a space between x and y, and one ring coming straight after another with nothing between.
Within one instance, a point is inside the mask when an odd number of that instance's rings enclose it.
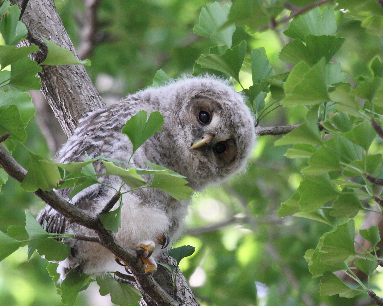
<instances>
[{"instance_id":1,"label":"broad green leaf at the bottom edge, just below the owl's feet","mask_svg":"<svg viewBox=\"0 0 383 306\"><path fill-rule=\"evenodd\" d=\"M141 293L125 283L117 282L110 275L97 277L97 284L100 286L100 295L105 296L110 293L112 303L119 306L128 306L141 300Z\"/></svg>"}]
</instances>

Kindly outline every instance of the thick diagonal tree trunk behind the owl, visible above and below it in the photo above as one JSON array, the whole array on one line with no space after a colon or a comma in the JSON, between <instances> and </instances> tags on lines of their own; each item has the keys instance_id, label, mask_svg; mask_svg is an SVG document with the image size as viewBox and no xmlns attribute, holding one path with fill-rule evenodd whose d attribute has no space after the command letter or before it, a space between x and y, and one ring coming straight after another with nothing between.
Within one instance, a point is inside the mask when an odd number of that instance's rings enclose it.
<instances>
[{"instance_id":1,"label":"thick diagonal tree trunk behind the owl, visible above and below it","mask_svg":"<svg viewBox=\"0 0 383 306\"><path fill-rule=\"evenodd\" d=\"M21 7L21 3L22 0L11 0L11 4L17 4L19 7ZM27 43L41 47L41 52L38 52L33 58L37 62L42 62L46 57L46 48L42 37L46 37L61 47L70 50L77 56L53 0L30 1L21 20L28 29ZM43 66L39 76L42 83L41 91L67 137L73 133L78 121L86 113L105 106L82 65ZM163 254L159 261L170 264L172 258ZM159 266L154 278L179 305L199 305L186 279L179 271L177 273L175 288L173 287L172 274L161 266ZM141 281L137 279L137 287L141 288L142 291ZM145 281L143 282L145 283ZM156 282L154 284L156 285ZM153 296L152 293L148 294L143 291L142 294L144 296L142 305L161 306L159 302L154 302L150 297Z\"/></svg>"}]
</instances>

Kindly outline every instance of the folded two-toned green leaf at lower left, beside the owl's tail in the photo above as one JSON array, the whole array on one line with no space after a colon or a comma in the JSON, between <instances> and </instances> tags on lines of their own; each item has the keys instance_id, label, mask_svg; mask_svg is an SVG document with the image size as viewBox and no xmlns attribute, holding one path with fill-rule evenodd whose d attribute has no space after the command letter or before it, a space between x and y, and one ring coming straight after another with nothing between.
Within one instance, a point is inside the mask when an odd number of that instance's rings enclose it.
<instances>
[{"instance_id":1,"label":"folded two-toned green leaf at lower left, beside the owl's tail","mask_svg":"<svg viewBox=\"0 0 383 306\"><path fill-rule=\"evenodd\" d=\"M69 245L53 239L55 234L47 233L27 210L25 217L25 229L29 235L28 260L35 249L49 261L62 261L69 256Z\"/></svg>"}]
</instances>

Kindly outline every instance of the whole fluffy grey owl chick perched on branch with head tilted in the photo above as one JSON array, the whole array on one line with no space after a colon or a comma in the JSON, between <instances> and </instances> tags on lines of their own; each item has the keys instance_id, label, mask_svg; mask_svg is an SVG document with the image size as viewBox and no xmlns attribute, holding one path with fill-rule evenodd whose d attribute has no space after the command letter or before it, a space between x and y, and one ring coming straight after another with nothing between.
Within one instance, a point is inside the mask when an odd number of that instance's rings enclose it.
<instances>
[{"instance_id":1,"label":"whole fluffy grey owl chick perched on branch with head tilted","mask_svg":"<svg viewBox=\"0 0 383 306\"><path fill-rule=\"evenodd\" d=\"M139 110L159 111L165 123L162 131L136 151L131 164L147 168L145 160L149 160L167 167L186 176L194 190L201 190L241 170L254 144L254 120L240 94L221 79L183 78L163 87L139 91L118 104L89 113L58 152L59 161L80 162L85 159L86 152L91 159L104 155L128 162L132 146L121 134L121 128ZM105 171L101 162L93 165L96 172ZM145 179L150 181L151 178ZM116 176L102 176L99 180L117 189L121 183ZM69 199L70 189L60 189L57 193ZM114 194L113 189L96 184L84 189L70 202L97 214ZM164 244L162 237L174 240L179 236L188 203L154 188L123 195L122 225L116 236L130 248L144 253L141 259L147 266L146 271L155 272L154 259L161 247L159 243ZM95 235L92 230L67 222L49 206L38 217L41 224L44 220L48 232ZM113 254L98 243L72 239L68 244L71 255L61 261L57 269L61 280L75 266L80 266L86 274L122 268ZM154 248L152 256L146 259Z\"/></svg>"}]
</instances>

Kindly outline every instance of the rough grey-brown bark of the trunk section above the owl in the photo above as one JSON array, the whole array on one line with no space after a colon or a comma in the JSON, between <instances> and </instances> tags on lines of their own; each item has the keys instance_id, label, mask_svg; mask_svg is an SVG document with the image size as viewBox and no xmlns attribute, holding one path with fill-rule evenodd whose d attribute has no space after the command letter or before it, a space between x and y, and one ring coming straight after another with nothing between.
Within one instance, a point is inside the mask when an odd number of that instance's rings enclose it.
<instances>
[{"instance_id":1,"label":"rough grey-brown bark of the trunk section above the owl","mask_svg":"<svg viewBox=\"0 0 383 306\"><path fill-rule=\"evenodd\" d=\"M21 2L22 0L11 0L11 4L19 6ZM41 63L46 57L46 47L42 37L70 50L77 56L53 0L30 1L21 21L28 29L27 42L41 47L41 52L33 56L36 62ZM79 119L86 113L105 107L105 103L82 65L43 66L39 76L42 81L41 91L67 137L72 135Z\"/></svg>"}]
</instances>

